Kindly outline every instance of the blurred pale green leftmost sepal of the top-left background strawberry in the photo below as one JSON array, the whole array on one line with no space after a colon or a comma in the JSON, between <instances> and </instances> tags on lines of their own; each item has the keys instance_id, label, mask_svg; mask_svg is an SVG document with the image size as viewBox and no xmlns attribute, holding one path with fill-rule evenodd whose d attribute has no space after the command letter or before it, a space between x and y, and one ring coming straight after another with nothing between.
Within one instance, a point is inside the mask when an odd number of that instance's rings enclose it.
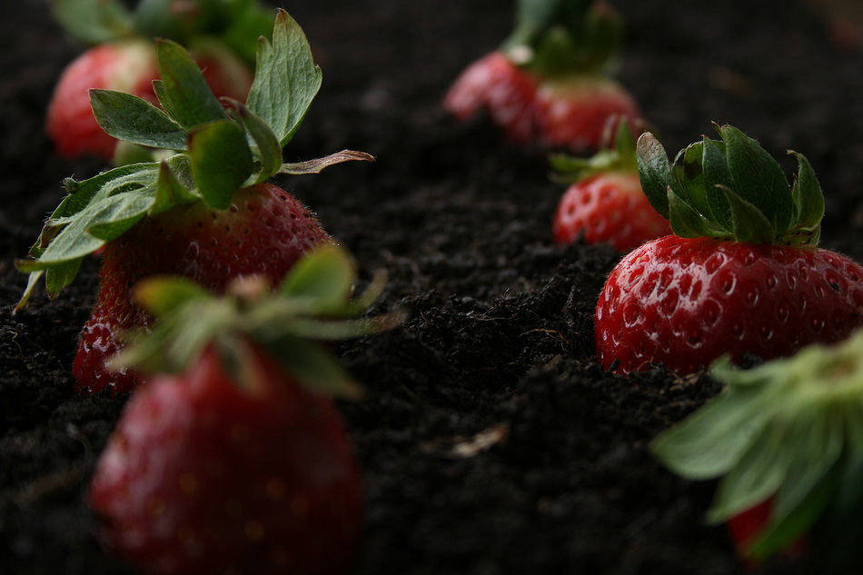
<instances>
[{"instance_id":1,"label":"blurred pale green leftmost sepal of the top-left background strawberry","mask_svg":"<svg viewBox=\"0 0 863 575\"><path fill-rule=\"evenodd\" d=\"M85 45L135 34L132 13L119 0L50 0L51 14L66 33Z\"/></svg>"}]
</instances>

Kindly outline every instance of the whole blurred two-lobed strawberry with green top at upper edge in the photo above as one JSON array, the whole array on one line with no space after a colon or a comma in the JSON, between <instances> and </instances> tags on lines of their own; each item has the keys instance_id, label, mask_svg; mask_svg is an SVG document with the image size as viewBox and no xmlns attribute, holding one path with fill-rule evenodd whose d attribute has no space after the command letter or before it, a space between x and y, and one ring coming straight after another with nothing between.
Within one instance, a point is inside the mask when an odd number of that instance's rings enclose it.
<instances>
[{"instance_id":1,"label":"whole blurred two-lobed strawberry with green top at upper edge","mask_svg":"<svg viewBox=\"0 0 863 575\"><path fill-rule=\"evenodd\" d=\"M511 36L461 73L443 105L460 121L486 112L514 144L597 150L611 117L641 115L610 75L622 42L602 1L520 0Z\"/></svg>"}]
</instances>

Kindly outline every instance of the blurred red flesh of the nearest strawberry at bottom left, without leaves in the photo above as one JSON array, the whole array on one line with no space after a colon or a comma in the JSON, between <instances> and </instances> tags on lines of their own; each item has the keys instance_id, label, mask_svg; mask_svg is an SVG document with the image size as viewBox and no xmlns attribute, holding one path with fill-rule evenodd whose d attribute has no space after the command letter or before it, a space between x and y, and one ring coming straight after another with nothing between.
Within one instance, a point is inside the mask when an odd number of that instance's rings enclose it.
<instances>
[{"instance_id":1,"label":"blurred red flesh of the nearest strawberry at bottom left, without leaves","mask_svg":"<svg viewBox=\"0 0 863 575\"><path fill-rule=\"evenodd\" d=\"M332 400L263 352L243 388L209 349L147 382L99 459L104 541L147 575L345 573L362 530L358 466Z\"/></svg>"}]
</instances>

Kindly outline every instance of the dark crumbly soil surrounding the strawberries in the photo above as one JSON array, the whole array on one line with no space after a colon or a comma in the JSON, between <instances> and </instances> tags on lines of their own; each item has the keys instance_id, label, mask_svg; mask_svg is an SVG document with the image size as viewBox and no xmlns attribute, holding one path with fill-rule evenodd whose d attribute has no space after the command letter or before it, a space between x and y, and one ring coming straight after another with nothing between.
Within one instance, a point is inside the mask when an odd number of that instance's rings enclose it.
<instances>
[{"instance_id":1,"label":"dark crumbly soil surrounding the strawberries","mask_svg":"<svg viewBox=\"0 0 863 575\"><path fill-rule=\"evenodd\" d=\"M45 0L15 4L0 20L0 573L130 573L100 550L84 505L124 402L72 391L97 262L54 301L39 292L12 315L25 287L13 260L64 195L62 179L103 167L52 154L45 106L80 47ZM715 121L774 155L806 154L827 195L822 245L863 260L863 55L831 43L800 0L611 4L628 22L620 80L670 153ZM603 372L592 313L620 254L554 246L563 190L545 155L441 110L451 80L509 33L511 3L285 7L323 69L286 158L352 148L377 161L281 183L363 274L389 271L379 311L411 312L402 328L339 350L368 390L342 405L367 497L355 572L742 573L725 531L704 522L713 485L671 475L648 449L717 384ZM763 572L818 571L787 561Z\"/></svg>"}]
</instances>

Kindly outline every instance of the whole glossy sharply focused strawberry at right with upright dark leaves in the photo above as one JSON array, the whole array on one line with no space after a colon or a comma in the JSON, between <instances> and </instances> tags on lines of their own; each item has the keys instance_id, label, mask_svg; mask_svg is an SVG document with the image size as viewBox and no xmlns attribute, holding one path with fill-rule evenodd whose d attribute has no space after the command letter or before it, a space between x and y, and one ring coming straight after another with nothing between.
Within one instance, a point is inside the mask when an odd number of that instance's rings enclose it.
<instances>
[{"instance_id":1,"label":"whole glossy sharply focused strawberry at right with upright dark leaves","mask_svg":"<svg viewBox=\"0 0 863 575\"><path fill-rule=\"evenodd\" d=\"M863 268L818 248L824 198L794 154L793 186L759 144L716 126L675 161L650 133L638 142L641 186L674 235L645 243L612 270L596 309L606 369L664 363L696 372L729 353L742 362L838 342L863 325Z\"/></svg>"}]
</instances>

